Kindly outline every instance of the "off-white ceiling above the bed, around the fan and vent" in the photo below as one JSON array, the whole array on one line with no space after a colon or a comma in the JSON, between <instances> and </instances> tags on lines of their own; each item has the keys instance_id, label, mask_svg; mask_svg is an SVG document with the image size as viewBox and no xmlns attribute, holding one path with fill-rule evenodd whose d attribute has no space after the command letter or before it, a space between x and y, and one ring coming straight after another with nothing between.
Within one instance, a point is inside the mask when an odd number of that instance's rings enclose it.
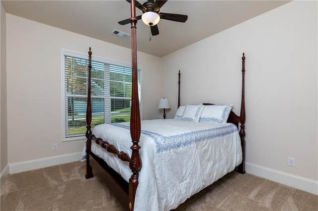
<instances>
[{"instance_id":1,"label":"off-white ceiling above the bed, around the fan and vent","mask_svg":"<svg viewBox=\"0 0 318 211\"><path fill-rule=\"evenodd\" d=\"M130 18L125 0L1 0L7 13L131 48L131 39L112 35L114 29L131 34L130 24L118 21ZM144 3L145 0L140 0ZM276 8L287 0L168 0L164 13L188 15L185 23L161 19L159 35L150 38L150 28L137 23L137 50L164 56L210 37L227 28ZM136 8L136 15L142 11Z\"/></svg>"}]
</instances>

